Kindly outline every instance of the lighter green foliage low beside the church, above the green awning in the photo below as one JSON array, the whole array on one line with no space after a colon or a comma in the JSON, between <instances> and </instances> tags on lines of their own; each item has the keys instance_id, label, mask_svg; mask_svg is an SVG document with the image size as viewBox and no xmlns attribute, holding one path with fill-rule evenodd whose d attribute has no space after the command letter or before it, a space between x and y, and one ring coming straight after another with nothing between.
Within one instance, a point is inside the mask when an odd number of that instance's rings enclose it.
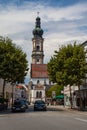
<instances>
[{"instance_id":1,"label":"lighter green foliage low beside the church, above the green awning","mask_svg":"<svg viewBox=\"0 0 87 130\"><path fill-rule=\"evenodd\" d=\"M52 97L52 91L55 91L56 96L58 96L61 94L61 90L63 90L63 86L59 86L56 84L46 91L46 97Z\"/></svg>"}]
</instances>

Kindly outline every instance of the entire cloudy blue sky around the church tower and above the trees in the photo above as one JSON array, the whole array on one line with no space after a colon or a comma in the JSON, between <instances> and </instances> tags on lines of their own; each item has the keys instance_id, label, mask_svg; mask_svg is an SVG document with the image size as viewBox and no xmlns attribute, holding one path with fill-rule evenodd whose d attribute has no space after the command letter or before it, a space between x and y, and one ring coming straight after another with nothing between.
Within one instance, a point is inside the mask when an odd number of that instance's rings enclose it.
<instances>
[{"instance_id":1,"label":"entire cloudy blue sky around the church tower and above the trees","mask_svg":"<svg viewBox=\"0 0 87 130\"><path fill-rule=\"evenodd\" d=\"M0 0L0 36L21 47L29 65L37 12L44 31L44 63L62 45L87 40L87 0Z\"/></svg>"}]
</instances>

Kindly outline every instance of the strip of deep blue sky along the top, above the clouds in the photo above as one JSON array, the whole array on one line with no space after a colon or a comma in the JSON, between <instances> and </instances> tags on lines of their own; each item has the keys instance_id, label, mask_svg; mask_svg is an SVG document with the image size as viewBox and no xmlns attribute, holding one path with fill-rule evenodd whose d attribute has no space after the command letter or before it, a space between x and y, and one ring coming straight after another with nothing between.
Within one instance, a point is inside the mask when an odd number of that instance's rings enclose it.
<instances>
[{"instance_id":1,"label":"strip of deep blue sky along the top, above the clouds","mask_svg":"<svg viewBox=\"0 0 87 130\"><path fill-rule=\"evenodd\" d=\"M6 5L14 3L15 5L22 5L25 2L33 2L33 3L46 3L50 6L67 6L71 4L75 4L78 2L85 2L86 0L0 0L0 4Z\"/></svg>"}]
</instances>

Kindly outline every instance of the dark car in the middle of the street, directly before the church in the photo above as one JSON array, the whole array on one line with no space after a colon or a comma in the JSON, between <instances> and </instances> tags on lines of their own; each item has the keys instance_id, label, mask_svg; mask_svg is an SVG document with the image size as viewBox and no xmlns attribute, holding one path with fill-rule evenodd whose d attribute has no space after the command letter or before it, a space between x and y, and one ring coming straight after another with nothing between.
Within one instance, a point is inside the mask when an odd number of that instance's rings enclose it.
<instances>
[{"instance_id":1,"label":"dark car in the middle of the street, directly before the church","mask_svg":"<svg viewBox=\"0 0 87 130\"><path fill-rule=\"evenodd\" d=\"M43 100L36 100L34 103L34 111L36 110L47 110L46 103Z\"/></svg>"}]
</instances>

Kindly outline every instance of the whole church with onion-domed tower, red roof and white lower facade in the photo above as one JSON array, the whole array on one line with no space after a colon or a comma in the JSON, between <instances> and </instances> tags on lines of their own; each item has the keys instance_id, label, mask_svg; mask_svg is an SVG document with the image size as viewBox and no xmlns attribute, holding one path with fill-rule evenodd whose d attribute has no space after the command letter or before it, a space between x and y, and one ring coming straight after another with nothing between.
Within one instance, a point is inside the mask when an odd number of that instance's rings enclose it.
<instances>
[{"instance_id":1,"label":"whole church with onion-domed tower, red roof and white lower facade","mask_svg":"<svg viewBox=\"0 0 87 130\"><path fill-rule=\"evenodd\" d=\"M47 64L44 64L44 49L43 49L43 30L41 28L41 19L36 17L35 28L33 29L32 38L32 62L29 83L30 102L36 100L46 100L45 90L49 87L49 76L47 71Z\"/></svg>"}]
</instances>

